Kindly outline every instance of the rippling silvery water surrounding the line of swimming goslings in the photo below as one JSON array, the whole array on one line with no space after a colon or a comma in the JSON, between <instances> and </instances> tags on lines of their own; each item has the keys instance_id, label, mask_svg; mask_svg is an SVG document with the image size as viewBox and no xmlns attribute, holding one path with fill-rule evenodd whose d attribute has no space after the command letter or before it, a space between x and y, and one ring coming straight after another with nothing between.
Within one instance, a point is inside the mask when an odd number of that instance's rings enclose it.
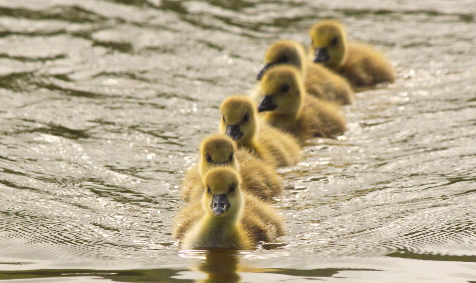
<instances>
[{"instance_id":1,"label":"rippling silvery water surrounding the line of swimming goslings","mask_svg":"<svg viewBox=\"0 0 476 283\"><path fill-rule=\"evenodd\" d=\"M2 282L476 282L472 1L1 0ZM179 185L223 98L318 19L397 82L280 169L281 244L182 251ZM218 279L217 279L218 278Z\"/></svg>"}]
</instances>

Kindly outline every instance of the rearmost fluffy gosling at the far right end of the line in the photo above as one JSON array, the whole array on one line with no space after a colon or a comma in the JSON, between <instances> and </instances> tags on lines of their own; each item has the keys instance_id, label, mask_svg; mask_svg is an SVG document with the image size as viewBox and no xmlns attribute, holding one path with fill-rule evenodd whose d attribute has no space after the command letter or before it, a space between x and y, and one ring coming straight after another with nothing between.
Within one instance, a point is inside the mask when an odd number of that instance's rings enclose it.
<instances>
[{"instance_id":1,"label":"rearmost fluffy gosling at the far right end of the line","mask_svg":"<svg viewBox=\"0 0 476 283\"><path fill-rule=\"evenodd\" d=\"M342 74L354 86L395 81L395 71L384 55L368 44L347 43L347 34L340 22L318 22L309 29L309 35L314 62Z\"/></svg>"}]
</instances>

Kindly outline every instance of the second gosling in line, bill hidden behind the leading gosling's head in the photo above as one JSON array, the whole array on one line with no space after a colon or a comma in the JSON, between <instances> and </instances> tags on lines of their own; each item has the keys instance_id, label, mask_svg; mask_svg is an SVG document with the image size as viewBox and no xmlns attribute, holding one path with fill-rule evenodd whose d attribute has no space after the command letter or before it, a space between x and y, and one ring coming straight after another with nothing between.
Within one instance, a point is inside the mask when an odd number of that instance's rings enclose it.
<instances>
[{"instance_id":1,"label":"second gosling in line, bill hidden behind the leading gosling's head","mask_svg":"<svg viewBox=\"0 0 476 283\"><path fill-rule=\"evenodd\" d=\"M212 134L200 144L200 161L191 167L182 183L180 196L186 202L200 198L204 191L202 176L215 167L228 166L238 170L241 188L264 201L271 201L283 192L283 182L273 167L260 161L247 150L238 149L223 134Z\"/></svg>"}]
</instances>

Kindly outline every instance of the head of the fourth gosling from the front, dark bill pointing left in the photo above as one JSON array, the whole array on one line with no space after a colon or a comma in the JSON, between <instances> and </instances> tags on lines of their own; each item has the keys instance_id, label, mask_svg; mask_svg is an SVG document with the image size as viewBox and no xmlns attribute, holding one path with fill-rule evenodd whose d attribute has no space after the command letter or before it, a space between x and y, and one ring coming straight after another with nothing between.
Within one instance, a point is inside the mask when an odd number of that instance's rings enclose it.
<instances>
[{"instance_id":1,"label":"head of the fourth gosling from the front, dark bill pointing left","mask_svg":"<svg viewBox=\"0 0 476 283\"><path fill-rule=\"evenodd\" d=\"M272 111L274 115L297 115L304 96L304 83L299 70L281 65L270 68L261 80L263 100L258 112Z\"/></svg>"}]
</instances>

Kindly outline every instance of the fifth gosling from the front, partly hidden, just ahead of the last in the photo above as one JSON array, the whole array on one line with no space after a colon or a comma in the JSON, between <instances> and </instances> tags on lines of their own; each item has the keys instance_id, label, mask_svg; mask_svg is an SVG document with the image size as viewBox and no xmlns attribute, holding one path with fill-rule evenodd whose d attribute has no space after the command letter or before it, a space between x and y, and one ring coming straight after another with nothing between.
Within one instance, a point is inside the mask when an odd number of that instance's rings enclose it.
<instances>
[{"instance_id":1,"label":"fifth gosling from the front, partly hidden, just ahead of the last","mask_svg":"<svg viewBox=\"0 0 476 283\"><path fill-rule=\"evenodd\" d=\"M306 56L304 47L293 40L281 40L271 45L265 54L265 67L256 78L260 80L273 66L288 64L301 70L307 93L341 105L352 104L354 91L345 78L315 64Z\"/></svg>"}]
</instances>

